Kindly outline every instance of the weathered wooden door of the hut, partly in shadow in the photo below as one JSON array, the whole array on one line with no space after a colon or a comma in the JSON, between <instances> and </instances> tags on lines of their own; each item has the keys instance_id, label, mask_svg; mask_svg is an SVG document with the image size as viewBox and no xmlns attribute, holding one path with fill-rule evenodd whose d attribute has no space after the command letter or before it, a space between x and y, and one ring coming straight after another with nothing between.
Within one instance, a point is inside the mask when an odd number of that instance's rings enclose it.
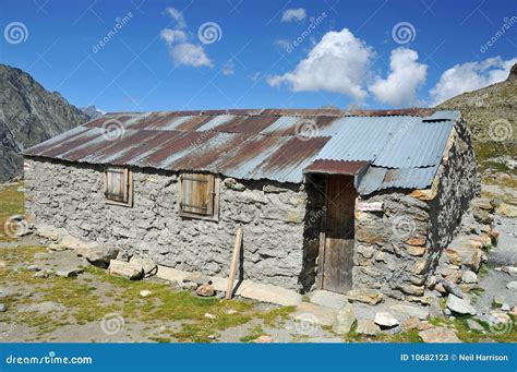
<instances>
[{"instance_id":1,"label":"weathered wooden door of the hut, partly in shadow","mask_svg":"<svg viewBox=\"0 0 517 372\"><path fill-rule=\"evenodd\" d=\"M356 196L352 176L328 176L321 280L323 289L339 293L352 288Z\"/></svg>"}]
</instances>

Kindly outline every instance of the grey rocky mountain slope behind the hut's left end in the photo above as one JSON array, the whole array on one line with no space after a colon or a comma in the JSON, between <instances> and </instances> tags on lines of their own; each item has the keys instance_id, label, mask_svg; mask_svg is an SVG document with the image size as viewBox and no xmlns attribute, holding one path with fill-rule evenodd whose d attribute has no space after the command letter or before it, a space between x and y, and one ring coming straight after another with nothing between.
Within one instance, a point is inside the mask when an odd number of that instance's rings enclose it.
<instances>
[{"instance_id":1,"label":"grey rocky mountain slope behind the hut's left end","mask_svg":"<svg viewBox=\"0 0 517 372\"><path fill-rule=\"evenodd\" d=\"M23 173L21 152L89 118L26 72L0 64L0 182Z\"/></svg>"}]
</instances>

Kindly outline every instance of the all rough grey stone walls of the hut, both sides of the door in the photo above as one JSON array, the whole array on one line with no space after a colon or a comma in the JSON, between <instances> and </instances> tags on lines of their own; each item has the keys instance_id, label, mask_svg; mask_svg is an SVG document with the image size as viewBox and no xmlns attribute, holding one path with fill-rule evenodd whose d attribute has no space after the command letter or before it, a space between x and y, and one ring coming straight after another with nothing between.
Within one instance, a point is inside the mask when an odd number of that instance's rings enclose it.
<instances>
[{"instance_id":1,"label":"all rough grey stone walls of the hut, both sides of the door","mask_svg":"<svg viewBox=\"0 0 517 372\"><path fill-rule=\"evenodd\" d=\"M104 167L27 158L26 211L36 225L64 228L161 265L227 276L237 226L244 231L240 275L306 291L317 271L323 177L304 184L220 177L219 220L181 217L178 175L133 168L133 207L106 204ZM353 288L395 298L421 297L478 191L469 133L459 119L429 190L383 190L359 196Z\"/></svg>"}]
</instances>

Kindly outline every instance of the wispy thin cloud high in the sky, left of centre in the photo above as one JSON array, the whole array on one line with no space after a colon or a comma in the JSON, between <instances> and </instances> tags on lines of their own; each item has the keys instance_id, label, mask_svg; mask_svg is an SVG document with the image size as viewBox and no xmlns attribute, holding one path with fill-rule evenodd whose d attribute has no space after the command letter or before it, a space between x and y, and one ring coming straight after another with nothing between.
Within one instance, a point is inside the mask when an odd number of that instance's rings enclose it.
<instances>
[{"instance_id":1,"label":"wispy thin cloud high in the sky, left of centre","mask_svg":"<svg viewBox=\"0 0 517 372\"><path fill-rule=\"evenodd\" d=\"M164 28L161 38L167 44L169 56L177 65L193 68L209 67L214 63L208 58L203 46L189 41L183 14L175 8L167 8L167 13L176 21L176 28Z\"/></svg>"}]
</instances>

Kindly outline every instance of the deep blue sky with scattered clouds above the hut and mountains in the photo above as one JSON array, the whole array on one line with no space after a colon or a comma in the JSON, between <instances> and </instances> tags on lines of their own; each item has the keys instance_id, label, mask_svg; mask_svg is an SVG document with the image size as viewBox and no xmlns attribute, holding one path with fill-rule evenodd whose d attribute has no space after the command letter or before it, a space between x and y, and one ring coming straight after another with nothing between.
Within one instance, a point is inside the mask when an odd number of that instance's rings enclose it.
<instances>
[{"instance_id":1,"label":"deep blue sky with scattered clouds above the hut and mountains","mask_svg":"<svg viewBox=\"0 0 517 372\"><path fill-rule=\"evenodd\" d=\"M515 0L2 0L0 11L2 63L107 111L428 106L517 61Z\"/></svg>"}]
</instances>

